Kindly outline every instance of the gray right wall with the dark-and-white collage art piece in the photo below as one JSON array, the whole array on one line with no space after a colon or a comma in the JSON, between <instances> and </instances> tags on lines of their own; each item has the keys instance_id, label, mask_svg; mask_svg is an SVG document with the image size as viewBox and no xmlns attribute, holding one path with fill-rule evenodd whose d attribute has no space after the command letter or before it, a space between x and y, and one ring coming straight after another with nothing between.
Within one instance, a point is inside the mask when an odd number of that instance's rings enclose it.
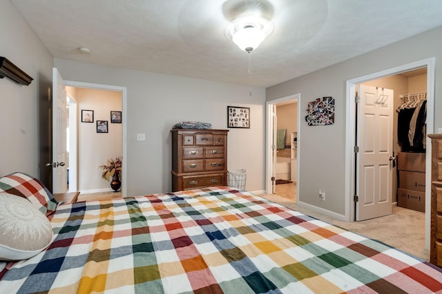
<instances>
[{"instance_id":1,"label":"gray right wall with the dark-and-white collage art piece","mask_svg":"<svg viewBox=\"0 0 442 294\"><path fill-rule=\"evenodd\" d=\"M353 59L337 63L285 83L269 87L266 101L300 93L298 105L317 97L333 96L336 100L335 124L309 127L305 120L298 125L299 195L300 201L345 214L345 114L346 81L408 63L436 57L434 129L442 127L442 27L423 32L409 39L387 45ZM305 113L301 112L304 116ZM327 193L327 201L320 201L318 189Z\"/></svg>"}]
</instances>

